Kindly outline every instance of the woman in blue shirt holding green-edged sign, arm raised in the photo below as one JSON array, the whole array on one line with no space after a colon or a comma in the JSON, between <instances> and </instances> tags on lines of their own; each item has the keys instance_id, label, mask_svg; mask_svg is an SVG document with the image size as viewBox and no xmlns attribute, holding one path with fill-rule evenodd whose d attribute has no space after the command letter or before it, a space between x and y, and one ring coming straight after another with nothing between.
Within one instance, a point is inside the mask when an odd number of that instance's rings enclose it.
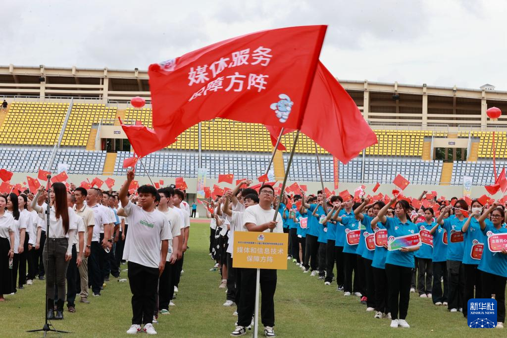
<instances>
[{"instance_id":1,"label":"woman in blue shirt holding green-edged sign, arm raised","mask_svg":"<svg viewBox=\"0 0 507 338\"><path fill-rule=\"evenodd\" d=\"M396 198L393 198L396 200ZM387 218L385 215L389 209L386 204L372 220L378 221L387 229L387 236L401 237L406 235L418 234L417 226L410 221L407 213L410 205L407 201L395 201L394 217ZM410 325L406 321L410 301L410 281L412 269L414 268L414 251L419 250L419 246L402 247L400 250L387 252L385 260L385 272L387 274L388 304L391 312L391 327L407 327Z\"/></svg>"}]
</instances>

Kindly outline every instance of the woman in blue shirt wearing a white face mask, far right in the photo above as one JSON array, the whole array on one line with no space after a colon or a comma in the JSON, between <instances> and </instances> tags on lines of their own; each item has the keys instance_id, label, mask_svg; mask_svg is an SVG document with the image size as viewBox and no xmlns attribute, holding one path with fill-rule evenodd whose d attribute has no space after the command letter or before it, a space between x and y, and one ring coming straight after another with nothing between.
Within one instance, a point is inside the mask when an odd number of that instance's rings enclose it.
<instances>
[{"instance_id":1,"label":"woman in blue shirt wearing a white face mask, far right","mask_svg":"<svg viewBox=\"0 0 507 338\"><path fill-rule=\"evenodd\" d=\"M463 296L463 316L468 316L468 299L480 298L482 283L481 271L477 269L481 261L481 254L474 252L474 246L484 244L485 237L481 231L479 217L481 216L483 205L477 201L472 201L472 212L463 224L461 232L463 233L463 269L465 271L465 289ZM491 223L489 219L485 219L487 225ZM475 295L474 295L475 290Z\"/></svg>"}]
</instances>

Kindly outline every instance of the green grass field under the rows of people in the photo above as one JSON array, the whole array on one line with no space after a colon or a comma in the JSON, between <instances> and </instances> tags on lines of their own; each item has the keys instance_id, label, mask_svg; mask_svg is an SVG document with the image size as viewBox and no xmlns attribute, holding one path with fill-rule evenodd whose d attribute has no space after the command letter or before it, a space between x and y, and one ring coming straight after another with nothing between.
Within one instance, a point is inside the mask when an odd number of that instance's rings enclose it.
<instances>
[{"instance_id":1,"label":"green grass field under the rows of people","mask_svg":"<svg viewBox=\"0 0 507 338\"><path fill-rule=\"evenodd\" d=\"M234 329L235 308L224 307L224 289L219 289L218 272L210 272L213 261L208 256L209 226L193 223L190 249L185 255L179 292L170 315L160 316L155 325L159 334L173 337L225 337ZM122 266L126 269L126 266ZM127 273L122 272L126 278ZM450 313L431 304L430 299L412 293L407 317L410 329L392 329L387 319L374 319L373 313L359 304L357 297L344 297L336 286L325 286L316 277L303 274L292 262L286 271L278 271L275 294L275 332L279 337L338 336L475 336L500 337L507 331L470 329L461 313ZM76 313L64 313L63 321L53 321L57 329L73 334L63 336L128 336L131 307L128 283L111 279L101 297L90 297L91 304L77 303ZM25 286L0 303L0 322L4 337L37 337L40 333L25 330L44 324L44 281ZM260 336L263 336L262 326ZM55 336L52 334L51 336ZM246 336L251 336L248 333Z\"/></svg>"}]
</instances>

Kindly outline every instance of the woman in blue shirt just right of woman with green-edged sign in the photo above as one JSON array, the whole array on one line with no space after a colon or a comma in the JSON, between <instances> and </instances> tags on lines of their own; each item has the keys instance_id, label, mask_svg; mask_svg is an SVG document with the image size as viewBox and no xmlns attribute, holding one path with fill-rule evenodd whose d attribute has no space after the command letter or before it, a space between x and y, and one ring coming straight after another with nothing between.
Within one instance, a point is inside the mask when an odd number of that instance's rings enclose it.
<instances>
[{"instance_id":1,"label":"woman in blue shirt just right of woman with green-edged sign","mask_svg":"<svg viewBox=\"0 0 507 338\"><path fill-rule=\"evenodd\" d=\"M437 225L433 221L433 209L427 208L422 214L424 215L424 222L418 222L416 226L419 228L419 233L421 231L429 232ZM431 259L433 258L433 247L422 242L420 249L414 255L417 258L417 291L419 291L419 297L431 298L431 281L433 279L433 262Z\"/></svg>"}]
</instances>

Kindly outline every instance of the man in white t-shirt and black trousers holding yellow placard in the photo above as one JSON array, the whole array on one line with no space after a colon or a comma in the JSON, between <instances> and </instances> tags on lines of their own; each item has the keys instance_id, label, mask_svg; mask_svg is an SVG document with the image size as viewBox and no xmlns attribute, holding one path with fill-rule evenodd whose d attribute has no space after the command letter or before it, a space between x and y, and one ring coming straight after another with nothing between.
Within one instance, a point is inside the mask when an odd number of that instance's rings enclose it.
<instances>
[{"instance_id":1,"label":"man in white t-shirt and black trousers holding yellow placard","mask_svg":"<svg viewBox=\"0 0 507 338\"><path fill-rule=\"evenodd\" d=\"M250 206L243 213L244 227L247 231L283 233L282 217L277 210L272 209L275 192L271 185L262 185L259 189L259 204ZM276 217L275 217L276 215ZM276 219L273 221L273 219ZM243 335L251 323L255 309L256 273L257 269L238 269L241 274L239 286L241 297L238 305L238 322L232 336ZM264 324L264 334L274 337L275 325L274 295L276 289L276 270L261 269L261 321Z\"/></svg>"}]
</instances>

